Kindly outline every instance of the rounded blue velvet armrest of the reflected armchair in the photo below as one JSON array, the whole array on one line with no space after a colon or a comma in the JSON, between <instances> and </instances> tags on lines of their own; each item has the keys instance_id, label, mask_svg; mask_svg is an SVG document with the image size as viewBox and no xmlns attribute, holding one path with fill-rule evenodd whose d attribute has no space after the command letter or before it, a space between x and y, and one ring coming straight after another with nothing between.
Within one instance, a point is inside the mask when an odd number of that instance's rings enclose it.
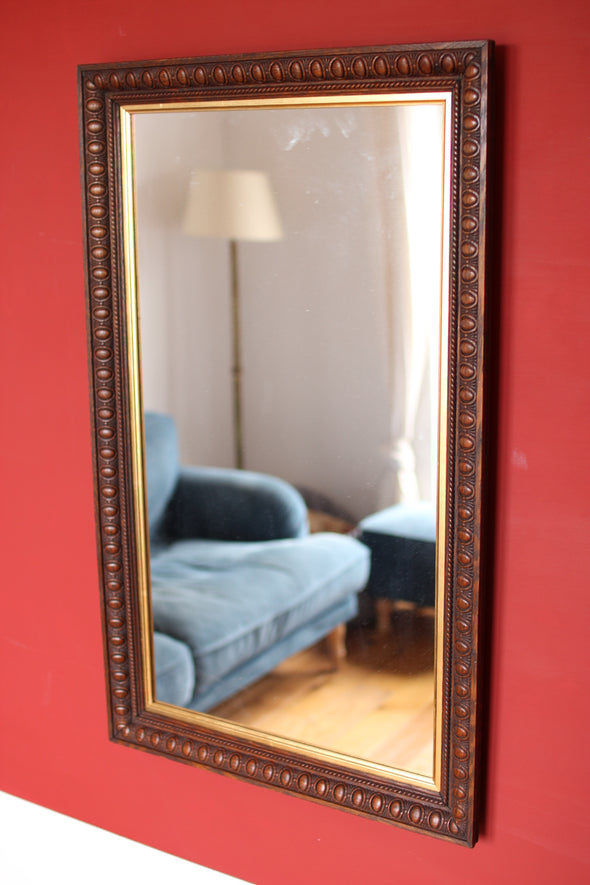
<instances>
[{"instance_id":1,"label":"rounded blue velvet armrest of the reflected armchair","mask_svg":"<svg viewBox=\"0 0 590 885\"><path fill-rule=\"evenodd\" d=\"M308 531L305 502L284 480L219 467L180 470L167 520L177 540L272 541Z\"/></svg>"}]
</instances>

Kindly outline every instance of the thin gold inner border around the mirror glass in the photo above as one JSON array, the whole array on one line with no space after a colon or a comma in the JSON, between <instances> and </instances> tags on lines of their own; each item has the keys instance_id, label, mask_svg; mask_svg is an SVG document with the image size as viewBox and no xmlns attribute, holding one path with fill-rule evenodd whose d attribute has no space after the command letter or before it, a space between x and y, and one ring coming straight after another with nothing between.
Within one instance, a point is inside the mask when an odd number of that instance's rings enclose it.
<instances>
[{"instance_id":1,"label":"thin gold inner border around the mirror glass","mask_svg":"<svg viewBox=\"0 0 590 885\"><path fill-rule=\"evenodd\" d=\"M439 334L439 421L438 421L438 504L436 535L436 627L435 627L435 688L434 688L434 758L433 775L408 772L394 766L384 765L364 758L323 749L297 740L261 732L229 720L207 713L199 713L182 707L172 706L155 699L155 676L153 654L153 624L151 614L151 589L149 565L149 534L147 531L147 500L145 493L145 449L143 439L143 409L141 388L141 354L138 304L138 277L136 264L136 201L134 175L134 126L135 114L178 113L182 111L206 112L220 109L244 108L310 108L310 107L354 107L354 106L393 106L407 104L442 104L444 107L444 156L441 167L443 175L443 217L442 217L442 288L440 293L440 334ZM129 377L130 427L132 439L132 479L135 511L135 540L137 545L137 569L139 588L139 609L142 643L142 672L146 692L146 710L151 713L174 717L186 724L196 724L213 728L223 734L254 740L274 749L313 757L332 765L349 768L374 775L393 777L410 785L438 791L441 786L441 741L442 704L440 702L443 685L444 650L444 604L445 604L445 538L447 533L447 420L448 420L448 336L449 336L449 247L450 247L450 199L451 199L451 121L453 96L450 92L392 93L359 96L328 96L306 98L268 98L264 100L228 100L213 102L175 102L174 104L126 104L120 107L120 150L122 181L123 247L126 289L126 318L128 328L127 369Z\"/></svg>"}]
</instances>

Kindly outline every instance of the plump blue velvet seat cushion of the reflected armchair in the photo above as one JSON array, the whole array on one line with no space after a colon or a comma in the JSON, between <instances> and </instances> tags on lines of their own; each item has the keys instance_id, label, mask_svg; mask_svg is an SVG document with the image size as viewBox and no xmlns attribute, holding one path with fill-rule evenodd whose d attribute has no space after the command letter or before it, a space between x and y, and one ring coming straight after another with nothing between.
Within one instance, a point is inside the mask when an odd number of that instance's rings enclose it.
<instances>
[{"instance_id":1,"label":"plump blue velvet seat cushion of the reflected armchair","mask_svg":"<svg viewBox=\"0 0 590 885\"><path fill-rule=\"evenodd\" d=\"M154 628L189 646L199 693L355 594L369 552L333 534L179 541L152 557L151 571Z\"/></svg>"}]
</instances>

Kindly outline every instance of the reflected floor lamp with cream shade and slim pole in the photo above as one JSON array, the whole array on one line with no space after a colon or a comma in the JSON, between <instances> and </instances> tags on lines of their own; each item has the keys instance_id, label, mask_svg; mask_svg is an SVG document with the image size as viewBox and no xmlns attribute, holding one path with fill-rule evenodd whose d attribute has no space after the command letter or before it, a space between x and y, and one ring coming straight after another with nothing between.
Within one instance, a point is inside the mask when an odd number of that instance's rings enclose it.
<instances>
[{"instance_id":1,"label":"reflected floor lamp with cream shade and slim pole","mask_svg":"<svg viewBox=\"0 0 590 885\"><path fill-rule=\"evenodd\" d=\"M242 425L242 340L238 242L273 242L283 231L265 172L196 169L191 174L183 230L194 237L229 241L235 464L244 467Z\"/></svg>"}]
</instances>

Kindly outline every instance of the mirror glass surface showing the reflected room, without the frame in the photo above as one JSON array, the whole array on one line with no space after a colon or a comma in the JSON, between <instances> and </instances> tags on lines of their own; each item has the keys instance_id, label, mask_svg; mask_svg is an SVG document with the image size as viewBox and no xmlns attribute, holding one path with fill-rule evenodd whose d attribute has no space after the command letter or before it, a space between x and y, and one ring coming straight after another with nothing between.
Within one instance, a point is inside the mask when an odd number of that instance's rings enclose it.
<instances>
[{"instance_id":1,"label":"mirror glass surface showing the reflected room, without the frame","mask_svg":"<svg viewBox=\"0 0 590 885\"><path fill-rule=\"evenodd\" d=\"M450 101L309 105L133 115L155 694L431 779Z\"/></svg>"}]
</instances>

